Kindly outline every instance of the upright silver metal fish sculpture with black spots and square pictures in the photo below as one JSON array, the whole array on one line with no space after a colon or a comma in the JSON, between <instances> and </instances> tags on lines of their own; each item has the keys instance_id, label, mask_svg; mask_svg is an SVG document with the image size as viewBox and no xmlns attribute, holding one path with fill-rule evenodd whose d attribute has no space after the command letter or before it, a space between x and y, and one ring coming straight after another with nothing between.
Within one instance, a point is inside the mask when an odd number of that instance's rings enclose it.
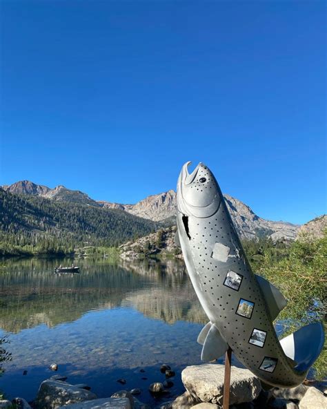
<instances>
[{"instance_id":1,"label":"upright silver metal fish sculpture with black spots and square pictures","mask_svg":"<svg viewBox=\"0 0 327 409\"><path fill-rule=\"evenodd\" d=\"M209 318L198 342L211 361L228 347L259 379L293 388L304 381L324 345L321 323L279 341L273 321L286 306L279 290L252 273L215 176L184 164L177 182L177 236L188 274Z\"/></svg>"}]
</instances>

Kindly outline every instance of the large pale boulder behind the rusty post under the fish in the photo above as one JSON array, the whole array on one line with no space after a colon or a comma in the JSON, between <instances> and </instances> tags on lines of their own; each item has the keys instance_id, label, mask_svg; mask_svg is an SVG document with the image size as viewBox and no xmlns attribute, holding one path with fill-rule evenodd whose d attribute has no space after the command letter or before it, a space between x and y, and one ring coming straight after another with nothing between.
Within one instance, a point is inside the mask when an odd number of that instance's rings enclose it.
<instances>
[{"instance_id":1,"label":"large pale boulder behind the rusty post under the fish","mask_svg":"<svg viewBox=\"0 0 327 409\"><path fill-rule=\"evenodd\" d=\"M207 363L188 366L181 372L181 380L188 392L199 401L222 405L225 366ZM232 366L230 375L230 405L250 402L259 396L261 383L247 369Z\"/></svg>"}]
</instances>

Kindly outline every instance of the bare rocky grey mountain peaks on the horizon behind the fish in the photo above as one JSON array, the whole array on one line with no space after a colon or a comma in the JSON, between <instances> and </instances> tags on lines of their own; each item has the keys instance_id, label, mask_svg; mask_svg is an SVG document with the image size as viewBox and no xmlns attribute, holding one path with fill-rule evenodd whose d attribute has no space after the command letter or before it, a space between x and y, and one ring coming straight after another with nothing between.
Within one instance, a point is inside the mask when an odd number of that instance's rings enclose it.
<instances>
[{"instance_id":1,"label":"bare rocky grey mountain peaks on the horizon behind the fish","mask_svg":"<svg viewBox=\"0 0 327 409\"><path fill-rule=\"evenodd\" d=\"M21 180L14 184L3 185L3 190L9 193L38 196L48 198L56 202L70 202L76 205L87 205L95 208L120 210L139 218L172 225L175 223L177 213L176 193L173 190L159 193L144 198L135 205L93 200L82 191L67 189L59 185L49 187L35 184L29 180ZM235 227L241 238L257 238L268 236L272 240L294 240L299 230L299 225L289 222L276 222L265 220L257 216L248 205L227 194L224 195L228 210L235 223Z\"/></svg>"}]
</instances>

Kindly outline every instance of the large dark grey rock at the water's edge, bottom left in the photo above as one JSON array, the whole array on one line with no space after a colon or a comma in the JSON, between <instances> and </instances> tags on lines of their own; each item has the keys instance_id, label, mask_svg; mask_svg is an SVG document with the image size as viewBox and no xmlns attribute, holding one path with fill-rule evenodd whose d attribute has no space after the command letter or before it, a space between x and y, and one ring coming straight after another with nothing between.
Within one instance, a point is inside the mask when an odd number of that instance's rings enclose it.
<instances>
[{"instance_id":1,"label":"large dark grey rock at the water's edge, bottom left","mask_svg":"<svg viewBox=\"0 0 327 409\"><path fill-rule=\"evenodd\" d=\"M97 395L88 390L77 388L63 381L47 379L41 383L34 403L35 407L39 409L57 409L70 403L92 399L97 399Z\"/></svg>"}]
</instances>

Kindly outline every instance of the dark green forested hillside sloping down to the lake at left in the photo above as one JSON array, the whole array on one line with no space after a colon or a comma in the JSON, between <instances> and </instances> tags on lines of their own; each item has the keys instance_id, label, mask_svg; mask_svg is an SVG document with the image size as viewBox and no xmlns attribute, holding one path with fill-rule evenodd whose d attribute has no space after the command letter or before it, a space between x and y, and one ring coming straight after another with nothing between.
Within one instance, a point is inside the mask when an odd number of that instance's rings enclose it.
<instances>
[{"instance_id":1,"label":"dark green forested hillside sloping down to the lake at left","mask_svg":"<svg viewBox=\"0 0 327 409\"><path fill-rule=\"evenodd\" d=\"M103 209L0 189L0 254L66 253L75 245L113 246L144 236L155 223Z\"/></svg>"}]
</instances>

